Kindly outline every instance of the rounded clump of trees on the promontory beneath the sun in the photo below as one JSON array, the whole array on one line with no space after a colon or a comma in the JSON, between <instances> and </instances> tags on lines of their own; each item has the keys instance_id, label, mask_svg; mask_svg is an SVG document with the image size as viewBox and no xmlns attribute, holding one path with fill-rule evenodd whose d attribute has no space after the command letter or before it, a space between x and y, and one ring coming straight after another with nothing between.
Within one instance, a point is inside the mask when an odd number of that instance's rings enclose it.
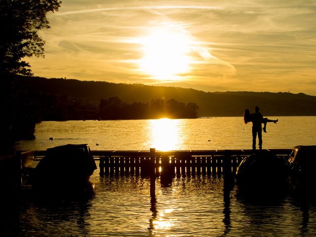
<instances>
[{"instance_id":1,"label":"rounded clump of trees on the promontory beneath the sun","mask_svg":"<svg viewBox=\"0 0 316 237\"><path fill-rule=\"evenodd\" d=\"M101 119L147 119L147 118L197 118L195 103L182 103L175 99L152 99L150 102L128 104L118 97L100 101Z\"/></svg>"}]
</instances>

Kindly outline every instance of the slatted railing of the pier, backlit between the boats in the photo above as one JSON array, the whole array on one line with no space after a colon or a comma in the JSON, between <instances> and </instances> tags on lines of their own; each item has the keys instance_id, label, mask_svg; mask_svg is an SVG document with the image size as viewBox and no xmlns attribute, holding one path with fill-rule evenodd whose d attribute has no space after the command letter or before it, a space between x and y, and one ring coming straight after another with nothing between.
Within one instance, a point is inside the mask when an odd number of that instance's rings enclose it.
<instances>
[{"instance_id":1,"label":"slatted railing of the pier, backlit between the boats","mask_svg":"<svg viewBox=\"0 0 316 237\"><path fill-rule=\"evenodd\" d=\"M270 149L277 157L288 158L292 149ZM43 157L45 151L36 151L35 158ZM252 150L180 150L180 151L91 151L99 160L100 175L142 174L151 175L163 172L210 174L225 170L235 173L241 160Z\"/></svg>"}]
</instances>

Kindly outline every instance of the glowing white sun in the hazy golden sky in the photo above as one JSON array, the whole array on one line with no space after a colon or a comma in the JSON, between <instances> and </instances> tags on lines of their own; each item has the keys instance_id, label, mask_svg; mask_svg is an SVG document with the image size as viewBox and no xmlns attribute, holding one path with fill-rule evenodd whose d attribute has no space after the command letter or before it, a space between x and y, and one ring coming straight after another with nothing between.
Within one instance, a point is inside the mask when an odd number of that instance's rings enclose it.
<instances>
[{"instance_id":1,"label":"glowing white sun in the hazy golden sky","mask_svg":"<svg viewBox=\"0 0 316 237\"><path fill-rule=\"evenodd\" d=\"M190 38L173 28L154 29L143 40L140 68L154 79L174 80L190 70Z\"/></svg>"}]
</instances>

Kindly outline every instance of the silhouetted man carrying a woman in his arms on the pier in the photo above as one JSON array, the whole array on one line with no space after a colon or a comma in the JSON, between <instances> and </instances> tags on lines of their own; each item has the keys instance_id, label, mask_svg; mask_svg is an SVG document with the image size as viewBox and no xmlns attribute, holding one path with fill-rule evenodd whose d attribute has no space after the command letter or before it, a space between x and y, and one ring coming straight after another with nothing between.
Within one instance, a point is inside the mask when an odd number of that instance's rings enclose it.
<instances>
[{"instance_id":1,"label":"silhouetted man carrying a woman in his arms on the pier","mask_svg":"<svg viewBox=\"0 0 316 237\"><path fill-rule=\"evenodd\" d=\"M256 137L258 134L259 139L259 149L262 149L262 130L267 132L266 127L268 122L276 123L278 119L272 120L269 118L263 118L261 113L259 112L259 107L255 107L255 113L250 114L248 109L245 109L243 113L243 120L245 123L252 122L252 149L256 150ZM262 128L262 123L264 124Z\"/></svg>"}]
</instances>

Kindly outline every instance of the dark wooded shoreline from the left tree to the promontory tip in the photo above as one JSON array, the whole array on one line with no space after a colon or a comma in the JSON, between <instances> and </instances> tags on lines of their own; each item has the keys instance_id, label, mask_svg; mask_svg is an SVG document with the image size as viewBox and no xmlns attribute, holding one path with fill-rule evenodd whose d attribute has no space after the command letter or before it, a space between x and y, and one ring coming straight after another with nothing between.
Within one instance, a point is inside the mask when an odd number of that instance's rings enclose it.
<instances>
[{"instance_id":1,"label":"dark wooded shoreline from the left tree to the promontory tip","mask_svg":"<svg viewBox=\"0 0 316 237\"><path fill-rule=\"evenodd\" d=\"M198 110L195 103L185 104L175 99L153 99L147 103L129 104L118 97L101 99L99 103L66 95L40 97L41 120L197 118Z\"/></svg>"}]
</instances>

